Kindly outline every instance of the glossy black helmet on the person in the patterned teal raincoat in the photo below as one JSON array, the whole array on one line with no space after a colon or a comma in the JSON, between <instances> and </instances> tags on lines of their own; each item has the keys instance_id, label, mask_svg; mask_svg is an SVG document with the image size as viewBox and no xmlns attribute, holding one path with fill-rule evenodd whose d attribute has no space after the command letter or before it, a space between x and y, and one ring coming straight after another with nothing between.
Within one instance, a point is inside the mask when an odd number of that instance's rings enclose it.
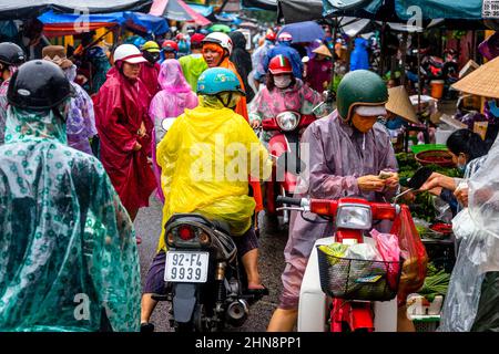
<instances>
[{"instance_id":1,"label":"glossy black helmet on the person in the patterned teal raincoat","mask_svg":"<svg viewBox=\"0 0 499 354\"><path fill-rule=\"evenodd\" d=\"M61 67L47 60L22 64L10 80L7 100L18 108L45 111L74 95Z\"/></svg>"}]
</instances>

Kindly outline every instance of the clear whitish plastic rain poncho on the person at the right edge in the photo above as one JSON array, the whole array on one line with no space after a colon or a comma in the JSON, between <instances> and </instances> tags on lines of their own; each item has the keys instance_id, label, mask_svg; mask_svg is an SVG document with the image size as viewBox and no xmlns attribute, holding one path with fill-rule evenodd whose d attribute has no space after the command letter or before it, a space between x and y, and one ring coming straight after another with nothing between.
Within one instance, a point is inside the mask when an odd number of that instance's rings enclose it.
<instances>
[{"instance_id":1,"label":"clear whitish plastic rain poncho on the person at the right edge","mask_svg":"<svg viewBox=\"0 0 499 354\"><path fill-rule=\"evenodd\" d=\"M486 273L499 271L499 139L496 139L481 168L468 180L468 208L452 220L459 251L439 331L472 330ZM490 304L481 301L480 305Z\"/></svg>"}]
</instances>

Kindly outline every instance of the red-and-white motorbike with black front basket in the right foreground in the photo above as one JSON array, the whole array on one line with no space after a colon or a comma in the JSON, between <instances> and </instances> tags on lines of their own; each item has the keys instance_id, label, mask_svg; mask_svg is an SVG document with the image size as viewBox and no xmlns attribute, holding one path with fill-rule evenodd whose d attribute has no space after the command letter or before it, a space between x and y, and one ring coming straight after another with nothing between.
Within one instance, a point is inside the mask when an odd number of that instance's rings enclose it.
<instances>
[{"instance_id":1,"label":"red-and-white motorbike with black front basket in the right foreground","mask_svg":"<svg viewBox=\"0 0 499 354\"><path fill-rule=\"evenodd\" d=\"M298 332L397 331L396 295L403 260L383 262L335 258L339 263L330 268L327 256L318 248L334 242L374 244L373 239L364 237L365 231L373 228L375 220L395 220L400 212L396 201L404 194L419 189L429 175L428 168L419 169L409 184L411 189L396 196L394 204L369 202L360 198L278 197L279 202L293 206L283 208L314 212L325 217L327 222L335 222L336 233L318 239L308 259L299 291ZM356 271L366 268L368 274ZM378 275L379 272L370 275L373 269L383 269L384 275ZM332 288L335 288L334 293Z\"/></svg>"}]
</instances>

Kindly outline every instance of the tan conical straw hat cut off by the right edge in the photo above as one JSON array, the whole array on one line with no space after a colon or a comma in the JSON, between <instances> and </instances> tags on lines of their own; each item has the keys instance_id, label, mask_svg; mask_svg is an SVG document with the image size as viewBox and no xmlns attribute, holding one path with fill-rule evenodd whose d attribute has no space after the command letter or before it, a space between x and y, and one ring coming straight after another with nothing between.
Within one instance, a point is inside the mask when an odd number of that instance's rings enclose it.
<instances>
[{"instance_id":1,"label":"tan conical straw hat cut off by the right edge","mask_svg":"<svg viewBox=\"0 0 499 354\"><path fill-rule=\"evenodd\" d=\"M452 88L477 96L499 98L499 56L459 80Z\"/></svg>"}]
</instances>

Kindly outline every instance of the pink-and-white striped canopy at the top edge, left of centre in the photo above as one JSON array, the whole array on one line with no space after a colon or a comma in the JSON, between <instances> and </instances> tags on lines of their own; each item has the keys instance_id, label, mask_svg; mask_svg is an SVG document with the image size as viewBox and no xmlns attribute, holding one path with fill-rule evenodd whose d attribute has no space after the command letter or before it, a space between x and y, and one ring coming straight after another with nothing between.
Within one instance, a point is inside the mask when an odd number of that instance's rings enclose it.
<instances>
[{"instance_id":1,"label":"pink-and-white striped canopy at the top edge, left of centre","mask_svg":"<svg viewBox=\"0 0 499 354\"><path fill-rule=\"evenodd\" d=\"M195 22L197 25L212 23L182 0L154 0L149 13L174 21Z\"/></svg>"}]
</instances>

